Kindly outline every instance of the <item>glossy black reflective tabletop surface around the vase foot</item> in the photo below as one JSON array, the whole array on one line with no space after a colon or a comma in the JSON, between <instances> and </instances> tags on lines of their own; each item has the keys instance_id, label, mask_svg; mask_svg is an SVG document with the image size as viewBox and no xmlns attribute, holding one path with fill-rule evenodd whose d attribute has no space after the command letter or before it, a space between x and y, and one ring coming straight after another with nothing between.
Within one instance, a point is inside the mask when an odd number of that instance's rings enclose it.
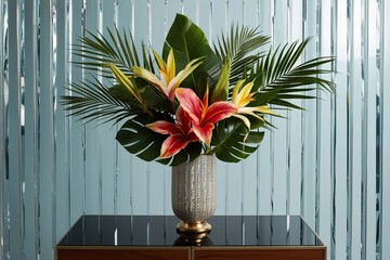
<instances>
[{"instance_id":1,"label":"glossy black reflective tabletop surface around the vase foot","mask_svg":"<svg viewBox=\"0 0 390 260\"><path fill-rule=\"evenodd\" d=\"M57 246L181 246L173 216L82 216ZM202 246L323 246L299 216L214 216Z\"/></svg>"}]
</instances>

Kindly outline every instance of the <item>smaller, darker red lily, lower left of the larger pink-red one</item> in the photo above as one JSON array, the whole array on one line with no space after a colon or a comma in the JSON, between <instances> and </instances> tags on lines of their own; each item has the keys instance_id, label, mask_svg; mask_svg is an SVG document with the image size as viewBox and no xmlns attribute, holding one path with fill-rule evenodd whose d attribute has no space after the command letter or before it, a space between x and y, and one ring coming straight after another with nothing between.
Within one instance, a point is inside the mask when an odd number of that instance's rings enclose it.
<instances>
[{"instance_id":1,"label":"smaller, darker red lily, lower left of the larger pink-red one","mask_svg":"<svg viewBox=\"0 0 390 260\"><path fill-rule=\"evenodd\" d=\"M191 120L187 113L179 106L176 113L177 123L169 121L155 121L146 127L160 134L169 134L162 142L160 158L169 158L178 154L190 142L199 141L194 131L191 129Z\"/></svg>"}]
</instances>

